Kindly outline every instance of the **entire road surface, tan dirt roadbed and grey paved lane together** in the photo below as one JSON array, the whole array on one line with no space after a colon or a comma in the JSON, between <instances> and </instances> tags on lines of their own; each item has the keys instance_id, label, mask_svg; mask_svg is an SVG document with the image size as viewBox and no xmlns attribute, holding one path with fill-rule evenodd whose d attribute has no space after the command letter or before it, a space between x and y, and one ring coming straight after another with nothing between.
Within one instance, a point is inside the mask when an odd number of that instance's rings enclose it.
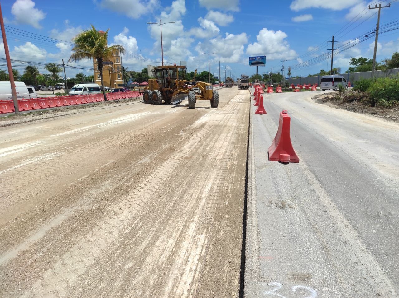
<instances>
[{"instance_id":1,"label":"entire road surface, tan dirt roadbed and grey paved lane together","mask_svg":"<svg viewBox=\"0 0 399 298\"><path fill-rule=\"evenodd\" d=\"M0 121L0 297L397 297L399 125L217 91Z\"/></svg>"}]
</instances>

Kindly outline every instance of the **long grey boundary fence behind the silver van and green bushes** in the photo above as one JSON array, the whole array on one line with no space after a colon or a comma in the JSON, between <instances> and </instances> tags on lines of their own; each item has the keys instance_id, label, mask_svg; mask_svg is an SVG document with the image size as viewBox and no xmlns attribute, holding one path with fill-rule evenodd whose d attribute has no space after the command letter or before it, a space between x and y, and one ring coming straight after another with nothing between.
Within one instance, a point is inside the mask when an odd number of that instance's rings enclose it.
<instances>
[{"instance_id":1,"label":"long grey boundary fence behind the silver van and green bushes","mask_svg":"<svg viewBox=\"0 0 399 298\"><path fill-rule=\"evenodd\" d=\"M397 74L399 73L399 68L394 68L394 69L387 69L385 71L375 71L374 72L374 77L375 78L383 78L385 76L390 76L391 74ZM335 74L334 74L335 75ZM337 74L338 76L343 76L346 78L348 82L351 82L352 85L354 84L355 81L359 80L360 78L371 78L371 71L363 71L361 73L341 73ZM302 78L288 78L286 81L288 81L290 84L319 84L320 85L320 80L322 76L305 76Z\"/></svg>"}]
</instances>

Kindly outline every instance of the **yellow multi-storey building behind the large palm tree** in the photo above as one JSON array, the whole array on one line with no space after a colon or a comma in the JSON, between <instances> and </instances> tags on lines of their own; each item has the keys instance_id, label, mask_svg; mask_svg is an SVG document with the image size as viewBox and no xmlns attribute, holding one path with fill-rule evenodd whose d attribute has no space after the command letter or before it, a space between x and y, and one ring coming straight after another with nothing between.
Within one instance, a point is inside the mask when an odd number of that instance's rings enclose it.
<instances>
[{"instance_id":1,"label":"yellow multi-storey building behind the large palm tree","mask_svg":"<svg viewBox=\"0 0 399 298\"><path fill-rule=\"evenodd\" d=\"M104 31L99 31L105 33ZM122 81L122 57L119 51L115 51L110 60L103 62L103 80L104 86L109 88L119 88L119 84L123 84ZM94 67L94 82L101 86L100 72L97 68L97 60L93 61Z\"/></svg>"}]
</instances>

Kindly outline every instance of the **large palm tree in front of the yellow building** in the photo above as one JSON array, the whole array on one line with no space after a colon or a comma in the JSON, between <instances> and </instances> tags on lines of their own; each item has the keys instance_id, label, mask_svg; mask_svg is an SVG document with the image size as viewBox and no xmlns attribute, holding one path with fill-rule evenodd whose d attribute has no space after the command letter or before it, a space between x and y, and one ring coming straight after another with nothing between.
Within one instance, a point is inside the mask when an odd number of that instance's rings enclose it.
<instances>
[{"instance_id":1,"label":"large palm tree in front of the yellow building","mask_svg":"<svg viewBox=\"0 0 399 298\"><path fill-rule=\"evenodd\" d=\"M111 45L108 47L107 37L108 31L100 32L91 25L91 29L87 29L73 37L72 41L75 45L72 48L74 53L69 57L68 62L80 61L83 59L97 59L97 68L100 72L101 87L103 89L104 100L105 96L104 80L103 80L103 61L112 58L112 53L120 51L124 54L124 47L122 45Z\"/></svg>"}]
</instances>

